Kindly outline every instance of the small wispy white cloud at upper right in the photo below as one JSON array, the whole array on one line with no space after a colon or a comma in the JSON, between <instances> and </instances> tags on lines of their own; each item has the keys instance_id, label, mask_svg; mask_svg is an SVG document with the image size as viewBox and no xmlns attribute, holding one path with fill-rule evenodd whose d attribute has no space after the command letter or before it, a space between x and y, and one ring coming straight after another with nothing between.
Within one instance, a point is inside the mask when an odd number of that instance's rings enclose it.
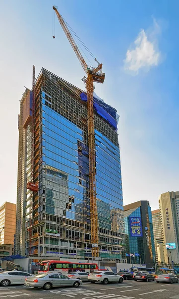
<instances>
[{"instance_id":1,"label":"small wispy white cloud at upper right","mask_svg":"<svg viewBox=\"0 0 179 299\"><path fill-rule=\"evenodd\" d=\"M161 53L158 50L156 35L160 33L160 27L154 19L154 28L147 34L141 29L133 49L128 49L124 60L124 69L135 74L139 69L149 70L152 66L157 66L160 61Z\"/></svg>"}]
</instances>

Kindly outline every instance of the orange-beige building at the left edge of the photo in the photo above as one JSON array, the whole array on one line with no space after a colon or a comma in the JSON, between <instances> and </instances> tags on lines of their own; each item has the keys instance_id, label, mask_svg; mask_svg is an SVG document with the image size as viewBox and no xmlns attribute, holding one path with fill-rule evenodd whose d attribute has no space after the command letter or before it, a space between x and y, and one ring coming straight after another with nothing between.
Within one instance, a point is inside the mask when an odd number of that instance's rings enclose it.
<instances>
[{"instance_id":1,"label":"orange-beige building at the left edge of the photo","mask_svg":"<svg viewBox=\"0 0 179 299\"><path fill-rule=\"evenodd\" d=\"M0 206L0 248L14 244L15 225L16 204L6 201Z\"/></svg>"}]
</instances>

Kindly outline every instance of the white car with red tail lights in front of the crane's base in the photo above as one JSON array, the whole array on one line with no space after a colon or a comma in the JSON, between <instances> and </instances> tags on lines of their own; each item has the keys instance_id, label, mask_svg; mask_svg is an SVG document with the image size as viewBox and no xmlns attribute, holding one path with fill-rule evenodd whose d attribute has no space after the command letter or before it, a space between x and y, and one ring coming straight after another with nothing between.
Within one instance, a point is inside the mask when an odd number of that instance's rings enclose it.
<instances>
[{"instance_id":1,"label":"white car with red tail lights in front of the crane's base","mask_svg":"<svg viewBox=\"0 0 179 299\"><path fill-rule=\"evenodd\" d=\"M123 277L110 271L97 271L88 275L88 281L92 284L96 282L107 285L108 283L123 283Z\"/></svg>"}]
</instances>

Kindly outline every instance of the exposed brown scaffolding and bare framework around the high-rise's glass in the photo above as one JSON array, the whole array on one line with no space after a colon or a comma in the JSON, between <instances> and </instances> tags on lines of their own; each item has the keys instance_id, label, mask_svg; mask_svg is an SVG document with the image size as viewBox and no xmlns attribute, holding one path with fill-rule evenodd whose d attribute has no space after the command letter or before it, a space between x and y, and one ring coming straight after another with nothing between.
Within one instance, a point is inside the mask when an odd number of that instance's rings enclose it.
<instances>
[{"instance_id":1,"label":"exposed brown scaffolding and bare framework around the high-rise's glass","mask_svg":"<svg viewBox=\"0 0 179 299\"><path fill-rule=\"evenodd\" d=\"M27 92L30 92L29 90ZM35 106L34 106L34 147L33 147L33 184L38 184L38 192L26 190L26 181L30 181L30 170L28 170L27 177L25 174L22 174L23 170L26 166L30 164L26 164L23 161L26 158L26 148L27 145L26 140L28 136L28 140L31 138L29 131L30 124L27 126L27 129L23 128L23 105L21 103L20 117L19 117L19 144L20 140L22 142L21 152L24 151L24 156L19 152L19 163L21 161L20 167L18 168L18 182L21 186L21 191L18 192L22 195L23 200L33 193L30 197L32 201L30 201L30 205L26 206L26 210L31 206L30 214L32 214L32 222L29 223L26 221L26 254L31 256L38 256L43 254L43 248L46 246L47 239L50 242L50 238L53 238L55 242L52 246L56 246L55 244L59 243L59 248L65 251L68 248L65 245L65 242L71 242L74 244L74 247L77 248L86 248L91 245L91 224L90 224L90 190L89 190L89 168L88 173L84 173L79 166L79 185L81 184L84 188L84 202L83 206L80 205L77 207L78 211L76 213L79 217L75 219L68 219L66 217L66 212L70 211L70 207L74 205L75 196L69 196L68 201L66 202L66 206L63 209L62 215L50 215L46 210L46 200L47 196L46 192L46 180L45 184L43 184L43 180L45 179L44 173L45 169L42 167L42 93L44 93L46 107L51 108L53 111L57 112L59 115L64 117L66 120L69 120L71 123L75 124L78 128L80 128L83 132L83 141L78 145L78 148L86 150L86 156L89 155L89 147L88 147L88 111L87 111L87 103L83 102L80 98L80 94L82 90L77 87L71 85L60 77L54 75L46 69L42 69L35 83ZM24 96L25 98L25 96ZM100 117L96 111L94 111L94 129L98 128L98 131L105 135L113 144L119 146L118 144L118 134L115 132L114 128L109 125L109 123ZM21 137L21 139L20 139ZM30 144L28 145L30 147ZM22 160L20 160L22 159ZM30 161L29 161L30 163ZM89 167L89 166L88 166ZM21 171L21 172L20 172ZM21 174L19 174L21 173ZM25 173L25 172L24 172ZM24 177L24 183L22 182L22 177ZM44 189L44 190L43 190ZM22 194L22 192L24 194ZM18 195L19 196L19 195ZM29 197L28 197L29 198ZM27 201L27 199L26 199ZM28 201L29 202L29 201ZM25 222L25 217L29 214L23 214L23 207L19 209L17 207L21 217L17 219L18 223L22 225L22 219ZM82 214L81 214L82 213ZM52 226L50 227L50 223ZM32 225L31 225L32 224ZM30 229L31 228L31 229ZM19 226L20 229L20 226ZM29 230L30 229L30 230ZM52 233L51 230L58 231L58 233ZM48 231L49 230L49 231ZM50 234L50 235L49 235ZM58 236L60 234L60 238ZM122 238L121 234L110 231L109 228L105 230L101 230L98 225L98 235L99 235L99 245L100 246L108 246L110 249L110 244L106 241L102 241L101 236L110 235L114 240L120 240ZM24 238L24 237L23 237ZM24 238L25 239L25 238ZM17 238L18 242L19 238ZM44 242L44 243L43 243ZM25 243L25 240L24 240ZM49 244L50 247L50 244ZM117 248L120 248L120 245L116 245ZM72 248L72 247L71 247ZM68 248L69 249L69 248ZM59 249L60 250L60 249ZM19 253L19 251L18 251ZM22 251L23 254L25 254ZM44 252L45 254L45 252Z\"/></svg>"}]
</instances>

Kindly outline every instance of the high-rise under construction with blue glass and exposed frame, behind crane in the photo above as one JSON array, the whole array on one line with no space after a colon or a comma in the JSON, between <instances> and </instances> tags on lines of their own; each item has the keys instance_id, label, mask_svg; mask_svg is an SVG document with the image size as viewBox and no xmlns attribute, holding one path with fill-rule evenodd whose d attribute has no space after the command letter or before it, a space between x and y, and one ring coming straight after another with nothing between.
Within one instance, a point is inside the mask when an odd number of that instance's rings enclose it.
<instances>
[{"instance_id":1,"label":"high-rise under construction with blue glass and exposed frame, behind crane","mask_svg":"<svg viewBox=\"0 0 179 299\"><path fill-rule=\"evenodd\" d=\"M91 248L85 92L42 69L20 102L15 251L80 254ZM94 97L99 255L119 258L124 244L116 109Z\"/></svg>"}]
</instances>

